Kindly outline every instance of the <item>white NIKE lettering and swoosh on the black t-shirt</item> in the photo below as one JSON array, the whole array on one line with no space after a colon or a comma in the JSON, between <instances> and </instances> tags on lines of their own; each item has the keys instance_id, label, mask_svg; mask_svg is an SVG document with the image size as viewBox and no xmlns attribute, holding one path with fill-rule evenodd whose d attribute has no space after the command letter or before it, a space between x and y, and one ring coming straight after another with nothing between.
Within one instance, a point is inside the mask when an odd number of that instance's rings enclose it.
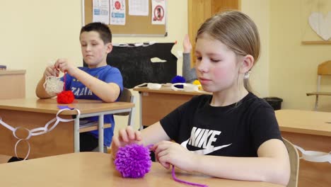
<instances>
[{"instance_id":1,"label":"white NIKE lettering and swoosh on the black t-shirt","mask_svg":"<svg viewBox=\"0 0 331 187\"><path fill-rule=\"evenodd\" d=\"M218 130L208 130L208 129L201 129L194 127L192 128L191 137L189 138L189 140L182 142L180 145L182 145L182 147L185 147L186 149L187 149L187 144L192 145L193 147L199 147L202 149L191 152L197 154L209 154L211 152L215 152L219 149L231 145L231 144L221 145L218 147L214 147L213 145L211 145L213 142L216 142L217 140L216 136L220 134L221 131Z\"/></svg>"}]
</instances>

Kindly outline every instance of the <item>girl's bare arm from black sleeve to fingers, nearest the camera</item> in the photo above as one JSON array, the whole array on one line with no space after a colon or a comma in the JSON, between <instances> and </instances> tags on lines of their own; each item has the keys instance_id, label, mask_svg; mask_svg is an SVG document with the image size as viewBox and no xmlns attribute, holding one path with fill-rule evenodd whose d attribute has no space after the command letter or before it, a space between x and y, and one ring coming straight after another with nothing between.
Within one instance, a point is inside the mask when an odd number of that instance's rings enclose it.
<instances>
[{"instance_id":1,"label":"girl's bare arm from black sleeve to fingers, nearest the camera","mask_svg":"<svg viewBox=\"0 0 331 187\"><path fill-rule=\"evenodd\" d=\"M267 140L257 150L258 157L219 157L199 155L173 142L161 142L156 147L159 162L186 171L209 176L245 181L266 181L286 186L289 182L289 154L281 140Z\"/></svg>"}]
</instances>

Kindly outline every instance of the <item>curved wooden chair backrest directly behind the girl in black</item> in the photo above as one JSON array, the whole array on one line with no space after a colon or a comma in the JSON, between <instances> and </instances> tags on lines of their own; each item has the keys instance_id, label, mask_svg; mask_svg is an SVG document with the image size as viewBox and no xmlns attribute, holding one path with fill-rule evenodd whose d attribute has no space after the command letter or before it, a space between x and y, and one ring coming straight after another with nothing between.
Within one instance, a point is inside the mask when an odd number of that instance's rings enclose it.
<instances>
[{"instance_id":1,"label":"curved wooden chair backrest directly behind the girl in black","mask_svg":"<svg viewBox=\"0 0 331 187\"><path fill-rule=\"evenodd\" d=\"M296 150L296 147L289 142L289 140L286 140L283 138L284 145L286 146L287 152L289 152L289 159L290 159L290 165L291 165L291 176L289 180L289 184L287 184L288 187L297 187L298 186L298 169L299 169L299 156L298 156L298 150Z\"/></svg>"}]
</instances>

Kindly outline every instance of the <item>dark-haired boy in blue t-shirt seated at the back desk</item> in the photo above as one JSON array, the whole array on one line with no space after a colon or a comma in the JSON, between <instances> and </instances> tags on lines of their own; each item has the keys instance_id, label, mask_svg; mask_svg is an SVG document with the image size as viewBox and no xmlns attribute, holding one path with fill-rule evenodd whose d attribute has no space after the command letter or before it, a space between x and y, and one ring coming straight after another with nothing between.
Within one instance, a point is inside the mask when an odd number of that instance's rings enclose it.
<instances>
[{"instance_id":1,"label":"dark-haired boy in blue t-shirt seated at the back desk","mask_svg":"<svg viewBox=\"0 0 331 187\"><path fill-rule=\"evenodd\" d=\"M81 52L87 67L75 67L66 59L58 59L53 65L46 67L42 79L37 84L35 93L39 98L51 98L56 94L45 91L45 78L59 76L59 71L66 72L66 90L71 90L75 98L101 100L107 103L117 101L123 90L122 74L119 69L107 64L106 58L112 51L112 33L103 23L89 23L81 28L79 40ZM110 146L114 132L114 117L105 115L105 123L111 123L112 128L104 130L104 146ZM98 121L98 116L85 118L81 121ZM93 151L98 148L98 130L80 134L81 152Z\"/></svg>"}]
</instances>

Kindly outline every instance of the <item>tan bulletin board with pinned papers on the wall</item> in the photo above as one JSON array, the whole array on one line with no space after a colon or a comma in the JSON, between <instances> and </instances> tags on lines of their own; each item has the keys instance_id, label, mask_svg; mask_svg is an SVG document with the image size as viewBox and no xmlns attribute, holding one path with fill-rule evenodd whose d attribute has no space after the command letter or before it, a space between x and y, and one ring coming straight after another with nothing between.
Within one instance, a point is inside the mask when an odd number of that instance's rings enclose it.
<instances>
[{"instance_id":1,"label":"tan bulletin board with pinned papers on the wall","mask_svg":"<svg viewBox=\"0 0 331 187\"><path fill-rule=\"evenodd\" d=\"M130 16L128 0L126 3L126 21L124 26L108 25L113 35L139 35L139 36L167 36L167 19L164 25L153 25L151 0L149 0L149 16ZM165 1L166 4L166 1ZM165 8L166 9L166 8ZM165 16L167 12L165 11ZM83 25L93 21L93 2L92 0L83 0Z\"/></svg>"}]
</instances>

